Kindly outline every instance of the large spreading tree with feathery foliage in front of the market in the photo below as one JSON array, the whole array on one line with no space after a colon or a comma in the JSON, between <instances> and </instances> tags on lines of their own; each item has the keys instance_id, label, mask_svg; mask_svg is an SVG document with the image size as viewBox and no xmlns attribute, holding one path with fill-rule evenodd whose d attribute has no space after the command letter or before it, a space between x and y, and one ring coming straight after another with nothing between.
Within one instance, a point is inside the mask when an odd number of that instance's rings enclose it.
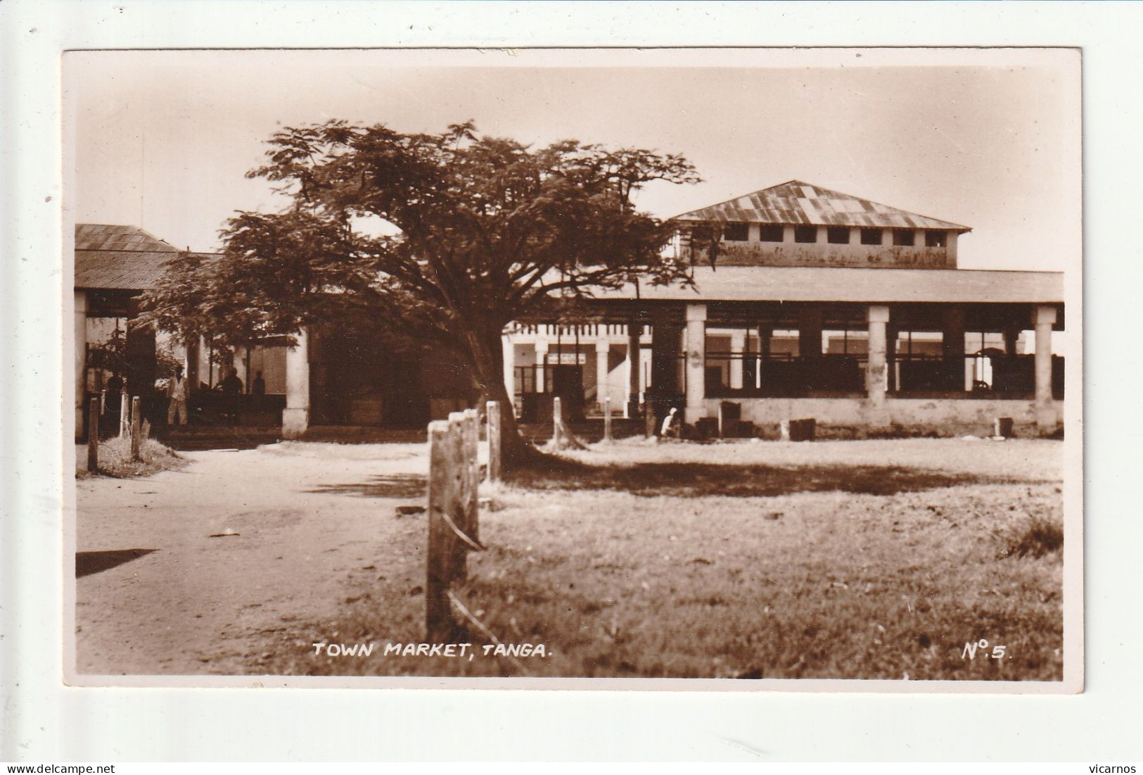
<instances>
[{"instance_id":1,"label":"large spreading tree with feathery foliage in front of the market","mask_svg":"<svg viewBox=\"0 0 1143 775\"><path fill-rule=\"evenodd\" d=\"M471 122L434 135L329 121L269 145L247 176L274 182L289 207L240 211L221 256L171 262L150 320L241 344L366 312L466 363L502 407L506 465L528 449L503 382L504 327L636 277L688 281L689 266L662 249L673 226L632 202L652 181L698 182L680 155L578 141L534 149Z\"/></svg>"}]
</instances>

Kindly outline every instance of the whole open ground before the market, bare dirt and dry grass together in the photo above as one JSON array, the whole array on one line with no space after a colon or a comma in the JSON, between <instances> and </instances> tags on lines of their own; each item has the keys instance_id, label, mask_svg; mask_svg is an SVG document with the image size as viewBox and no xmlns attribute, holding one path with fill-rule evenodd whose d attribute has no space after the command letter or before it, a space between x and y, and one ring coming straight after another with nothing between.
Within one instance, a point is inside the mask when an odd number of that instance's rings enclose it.
<instances>
[{"instance_id":1,"label":"whole open ground before the market, bare dirt and dry grass together","mask_svg":"<svg viewBox=\"0 0 1143 775\"><path fill-rule=\"evenodd\" d=\"M1062 447L628 440L565 454L482 488L487 551L457 590L501 641L544 656L485 655L470 626L453 640L471 660L385 654L424 640L425 445L183 453L183 470L78 482L77 666L1060 679ZM1004 657L965 656L981 639Z\"/></svg>"}]
</instances>

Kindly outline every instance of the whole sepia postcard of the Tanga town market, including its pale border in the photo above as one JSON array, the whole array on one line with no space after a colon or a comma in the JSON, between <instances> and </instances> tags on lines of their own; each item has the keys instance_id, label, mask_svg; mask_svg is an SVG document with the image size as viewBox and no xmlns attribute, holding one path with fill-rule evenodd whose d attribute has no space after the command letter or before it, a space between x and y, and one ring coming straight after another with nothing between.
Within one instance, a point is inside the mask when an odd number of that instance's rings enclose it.
<instances>
[{"instance_id":1,"label":"whole sepia postcard of the Tanga town market, including its pale border","mask_svg":"<svg viewBox=\"0 0 1143 775\"><path fill-rule=\"evenodd\" d=\"M1080 61L65 53L65 680L1081 692Z\"/></svg>"}]
</instances>

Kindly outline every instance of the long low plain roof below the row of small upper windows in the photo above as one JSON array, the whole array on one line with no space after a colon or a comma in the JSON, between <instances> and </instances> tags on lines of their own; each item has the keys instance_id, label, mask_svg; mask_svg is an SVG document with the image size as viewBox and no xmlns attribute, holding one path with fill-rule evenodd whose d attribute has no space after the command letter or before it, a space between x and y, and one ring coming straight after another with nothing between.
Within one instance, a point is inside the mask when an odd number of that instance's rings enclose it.
<instances>
[{"instance_id":1,"label":"long low plain roof below the row of small upper windows","mask_svg":"<svg viewBox=\"0 0 1143 775\"><path fill-rule=\"evenodd\" d=\"M1062 304L1063 272L839 266L695 267L695 288L640 283L639 298L680 302L965 302ZM631 299L633 286L599 290Z\"/></svg>"}]
</instances>

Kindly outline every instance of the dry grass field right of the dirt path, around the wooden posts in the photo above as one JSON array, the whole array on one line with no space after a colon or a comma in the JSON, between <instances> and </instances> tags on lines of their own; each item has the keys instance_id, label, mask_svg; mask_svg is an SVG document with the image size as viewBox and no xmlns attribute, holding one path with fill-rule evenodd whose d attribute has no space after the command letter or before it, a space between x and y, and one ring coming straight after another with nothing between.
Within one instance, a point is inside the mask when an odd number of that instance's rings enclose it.
<instances>
[{"instance_id":1,"label":"dry grass field right of the dirt path, around the wooden posts","mask_svg":"<svg viewBox=\"0 0 1143 775\"><path fill-rule=\"evenodd\" d=\"M502 641L543 644L545 656L354 658L279 648L286 658L269 666L1056 680L1060 449L632 441L570 454L550 474L490 493L495 511L481 516L488 551L470 556L461 593ZM423 518L406 525L418 541ZM322 629L337 633L323 640L374 641L378 650L423 640L419 575L378 582ZM981 639L1004 645L1004 658L986 649L966 658L966 642Z\"/></svg>"}]
</instances>

